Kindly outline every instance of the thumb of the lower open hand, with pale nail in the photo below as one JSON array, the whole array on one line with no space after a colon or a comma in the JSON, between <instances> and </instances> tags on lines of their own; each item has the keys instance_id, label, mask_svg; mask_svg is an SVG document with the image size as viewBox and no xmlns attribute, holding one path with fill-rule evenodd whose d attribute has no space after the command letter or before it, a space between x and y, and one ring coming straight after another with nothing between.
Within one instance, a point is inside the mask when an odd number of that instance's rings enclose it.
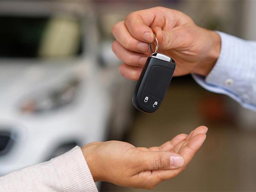
<instances>
[{"instance_id":1,"label":"thumb of the lower open hand, with pale nail","mask_svg":"<svg viewBox=\"0 0 256 192\"><path fill-rule=\"evenodd\" d=\"M146 170L176 169L183 166L184 160L179 154L170 151L140 151L140 165Z\"/></svg>"}]
</instances>

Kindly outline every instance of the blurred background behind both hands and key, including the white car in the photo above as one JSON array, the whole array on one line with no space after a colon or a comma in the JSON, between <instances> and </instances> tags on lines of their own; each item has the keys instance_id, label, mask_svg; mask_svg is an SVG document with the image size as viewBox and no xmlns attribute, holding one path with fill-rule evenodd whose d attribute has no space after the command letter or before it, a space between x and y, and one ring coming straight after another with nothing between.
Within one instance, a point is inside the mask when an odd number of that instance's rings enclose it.
<instances>
[{"instance_id":1,"label":"blurred background behind both hands and key, including the white car","mask_svg":"<svg viewBox=\"0 0 256 192\"><path fill-rule=\"evenodd\" d=\"M0 175L76 145L161 145L199 125L207 140L185 172L152 191L256 191L256 113L175 77L153 114L136 111L136 82L119 75L113 25L154 6L199 26L256 40L256 1L1 1ZM97 183L101 191L145 191Z\"/></svg>"}]
</instances>

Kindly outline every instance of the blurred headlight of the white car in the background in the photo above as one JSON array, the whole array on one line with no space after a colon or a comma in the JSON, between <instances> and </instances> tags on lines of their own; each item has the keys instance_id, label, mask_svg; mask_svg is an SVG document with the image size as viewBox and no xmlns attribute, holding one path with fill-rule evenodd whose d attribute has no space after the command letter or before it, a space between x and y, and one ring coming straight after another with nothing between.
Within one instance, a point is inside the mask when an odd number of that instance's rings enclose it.
<instances>
[{"instance_id":1,"label":"blurred headlight of the white car in the background","mask_svg":"<svg viewBox=\"0 0 256 192\"><path fill-rule=\"evenodd\" d=\"M72 79L56 90L29 97L21 103L20 111L23 113L41 113L61 108L75 99L79 84L78 79Z\"/></svg>"}]
</instances>

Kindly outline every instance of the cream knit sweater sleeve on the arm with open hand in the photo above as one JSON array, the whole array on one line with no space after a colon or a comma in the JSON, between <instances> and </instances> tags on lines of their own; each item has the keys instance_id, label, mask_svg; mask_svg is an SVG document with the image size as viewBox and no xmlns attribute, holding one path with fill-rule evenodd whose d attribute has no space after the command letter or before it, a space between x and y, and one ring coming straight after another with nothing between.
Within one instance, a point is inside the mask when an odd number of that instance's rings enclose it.
<instances>
[{"instance_id":1,"label":"cream knit sweater sleeve on the arm with open hand","mask_svg":"<svg viewBox=\"0 0 256 192\"><path fill-rule=\"evenodd\" d=\"M81 148L0 177L0 192L98 192Z\"/></svg>"}]
</instances>

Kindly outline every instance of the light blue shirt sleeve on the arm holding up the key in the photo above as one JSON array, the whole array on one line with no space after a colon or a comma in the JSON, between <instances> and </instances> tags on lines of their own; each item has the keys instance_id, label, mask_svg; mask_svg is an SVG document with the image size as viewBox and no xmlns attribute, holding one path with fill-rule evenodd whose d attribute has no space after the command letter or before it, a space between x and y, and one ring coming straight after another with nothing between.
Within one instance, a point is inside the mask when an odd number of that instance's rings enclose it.
<instances>
[{"instance_id":1,"label":"light blue shirt sleeve on the arm holding up the key","mask_svg":"<svg viewBox=\"0 0 256 192\"><path fill-rule=\"evenodd\" d=\"M256 111L256 41L218 32L220 56L207 77L192 74L205 89L225 94L244 108Z\"/></svg>"}]
</instances>

